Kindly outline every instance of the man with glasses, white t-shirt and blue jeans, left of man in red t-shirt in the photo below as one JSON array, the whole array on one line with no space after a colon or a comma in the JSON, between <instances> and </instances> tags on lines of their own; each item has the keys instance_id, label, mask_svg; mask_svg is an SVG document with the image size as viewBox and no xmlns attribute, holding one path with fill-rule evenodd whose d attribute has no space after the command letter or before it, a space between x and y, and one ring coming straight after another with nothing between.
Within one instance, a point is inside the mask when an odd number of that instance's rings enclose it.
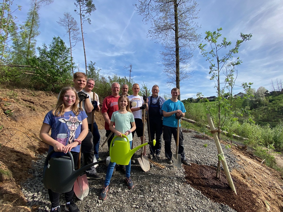
<instances>
[{"instance_id":1,"label":"man with glasses, white t-shirt and blue jeans, left of man in red t-shirt","mask_svg":"<svg viewBox=\"0 0 283 212\"><path fill-rule=\"evenodd\" d=\"M89 94L92 105L94 107L93 110L99 112L100 111L100 106L99 106L99 99L98 99L98 95L96 93L93 93L93 87L95 85L95 81L92 78L88 78L87 79L87 84L84 88L83 91L85 91L87 94ZM93 94L95 94L95 98L93 99ZM91 113L87 113L87 124L88 124L88 128L91 131L91 123L92 123L92 112ZM97 161L101 161L99 155L98 155L98 150L99 150L99 143L100 143L100 134L98 131L98 126L95 122L95 117L93 116L93 131L91 132L93 135L93 147L94 147L94 156L97 159Z\"/></svg>"}]
</instances>

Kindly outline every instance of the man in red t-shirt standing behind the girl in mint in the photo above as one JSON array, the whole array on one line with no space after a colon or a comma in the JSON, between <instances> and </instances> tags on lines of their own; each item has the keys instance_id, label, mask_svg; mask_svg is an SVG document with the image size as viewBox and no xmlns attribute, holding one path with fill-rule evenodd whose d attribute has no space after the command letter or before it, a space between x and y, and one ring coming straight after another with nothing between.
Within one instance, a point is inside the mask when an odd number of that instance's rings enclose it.
<instances>
[{"instance_id":1,"label":"man in red t-shirt standing behind the girl in mint","mask_svg":"<svg viewBox=\"0 0 283 212\"><path fill-rule=\"evenodd\" d=\"M106 129L106 137L110 135L111 130L109 129L110 119L112 116L112 113L119 110L118 109L118 99L119 99L119 91L120 91L120 84L117 82L113 82L111 85L112 95L105 97L102 104L102 116L105 120L104 128ZM114 133L111 135L111 137L108 139L108 151L110 149L110 143L112 139L114 138Z\"/></svg>"}]
</instances>

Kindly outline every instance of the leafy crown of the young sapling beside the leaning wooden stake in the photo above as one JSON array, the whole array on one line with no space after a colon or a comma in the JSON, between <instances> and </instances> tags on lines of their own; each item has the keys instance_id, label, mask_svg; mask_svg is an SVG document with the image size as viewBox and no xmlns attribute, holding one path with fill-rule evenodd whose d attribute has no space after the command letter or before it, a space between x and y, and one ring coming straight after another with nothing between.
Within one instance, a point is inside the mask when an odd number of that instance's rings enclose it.
<instances>
[{"instance_id":1,"label":"leafy crown of the young sapling beside the leaning wooden stake","mask_svg":"<svg viewBox=\"0 0 283 212\"><path fill-rule=\"evenodd\" d=\"M227 118L226 112L231 111L231 103L224 98L225 95L229 93L230 98L232 98L232 87L234 86L234 82L236 80L235 71L237 70L237 66L242 63L242 60L237 57L235 61L232 61L233 55L239 52L239 47L243 42L250 40L252 34L243 34L241 33L240 40L237 40L235 47L230 50L226 50L229 46L231 46L232 42L227 41L227 38L223 37L221 42L218 42L218 38L222 36L220 31L222 28L217 29L217 32L206 31L205 41L208 42L210 51L206 49L207 44L200 44L199 48L201 50L201 54L206 60L210 63L209 66L209 74L211 74L211 80L215 82L215 88L217 93L217 101L215 104L217 106L216 116L213 116L212 111L210 111L211 116L216 119L217 130L218 130L218 139L220 139L220 131L223 126L225 119ZM226 68L224 68L226 67ZM224 74L224 77L220 77ZM223 79L224 78L224 79ZM224 86L222 86L224 83ZM252 85L252 83L243 83L241 87L244 89ZM221 110L225 110L225 116L221 116ZM230 116L231 117L231 116Z\"/></svg>"}]
</instances>

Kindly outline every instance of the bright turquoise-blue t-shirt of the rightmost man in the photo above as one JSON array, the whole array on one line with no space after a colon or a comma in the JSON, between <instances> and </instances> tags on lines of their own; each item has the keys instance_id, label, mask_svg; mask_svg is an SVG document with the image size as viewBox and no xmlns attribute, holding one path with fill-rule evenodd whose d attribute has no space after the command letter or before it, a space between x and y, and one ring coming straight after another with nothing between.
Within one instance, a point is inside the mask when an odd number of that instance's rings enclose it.
<instances>
[{"instance_id":1,"label":"bright turquoise-blue t-shirt of the rightmost man","mask_svg":"<svg viewBox=\"0 0 283 212\"><path fill-rule=\"evenodd\" d=\"M179 100L177 102L173 102L171 101L171 99L168 99L162 105L162 111L172 112L176 110L180 110L183 113L186 112L183 102ZM178 127L178 120L175 118L175 114L168 117L163 116L163 125L168 127ZM179 125L179 127L181 127L181 124Z\"/></svg>"}]
</instances>

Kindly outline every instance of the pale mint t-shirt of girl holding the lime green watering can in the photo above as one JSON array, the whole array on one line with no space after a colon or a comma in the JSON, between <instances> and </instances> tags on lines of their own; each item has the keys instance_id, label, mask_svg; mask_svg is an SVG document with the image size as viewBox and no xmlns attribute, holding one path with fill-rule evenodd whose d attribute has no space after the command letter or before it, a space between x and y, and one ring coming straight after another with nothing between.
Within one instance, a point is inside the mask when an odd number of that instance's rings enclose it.
<instances>
[{"instance_id":1,"label":"pale mint t-shirt of girl holding the lime green watering can","mask_svg":"<svg viewBox=\"0 0 283 212\"><path fill-rule=\"evenodd\" d=\"M125 133L127 130L131 129L131 122L134 122L134 115L131 112L121 114L118 111L115 111L112 114L111 120L115 123L115 129L121 133ZM132 133L127 135L129 141L133 140Z\"/></svg>"}]
</instances>

